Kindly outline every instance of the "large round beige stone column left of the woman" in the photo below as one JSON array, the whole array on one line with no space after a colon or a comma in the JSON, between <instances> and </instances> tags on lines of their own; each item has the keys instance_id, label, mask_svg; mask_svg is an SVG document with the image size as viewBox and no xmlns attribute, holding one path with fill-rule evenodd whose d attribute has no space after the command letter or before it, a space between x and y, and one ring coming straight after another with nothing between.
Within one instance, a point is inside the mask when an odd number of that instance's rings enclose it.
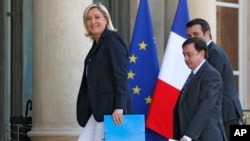
<instances>
[{"instance_id":1,"label":"large round beige stone column left of the woman","mask_svg":"<svg viewBox=\"0 0 250 141\"><path fill-rule=\"evenodd\" d=\"M76 141L76 100L84 58L84 8L92 0L33 1L32 141Z\"/></svg>"}]
</instances>

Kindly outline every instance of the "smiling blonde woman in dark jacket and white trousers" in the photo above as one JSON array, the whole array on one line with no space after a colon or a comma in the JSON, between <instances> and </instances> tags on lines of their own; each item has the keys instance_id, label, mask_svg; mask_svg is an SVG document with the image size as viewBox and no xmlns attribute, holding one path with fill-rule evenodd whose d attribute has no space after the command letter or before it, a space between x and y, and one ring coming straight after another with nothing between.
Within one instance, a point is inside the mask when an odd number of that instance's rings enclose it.
<instances>
[{"instance_id":1,"label":"smiling blonde woman in dark jacket and white trousers","mask_svg":"<svg viewBox=\"0 0 250 141\"><path fill-rule=\"evenodd\" d=\"M101 141L104 115L112 114L114 123L119 125L123 114L133 111L127 81L128 51L102 4L88 6L83 21L93 45L85 58L77 99L77 120L85 127L79 140Z\"/></svg>"}]
</instances>

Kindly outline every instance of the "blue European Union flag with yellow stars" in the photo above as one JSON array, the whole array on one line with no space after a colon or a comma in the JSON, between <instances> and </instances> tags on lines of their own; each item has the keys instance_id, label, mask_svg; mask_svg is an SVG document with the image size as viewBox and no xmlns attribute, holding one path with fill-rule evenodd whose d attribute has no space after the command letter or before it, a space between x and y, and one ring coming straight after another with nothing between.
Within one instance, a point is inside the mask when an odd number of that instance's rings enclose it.
<instances>
[{"instance_id":1,"label":"blue European Union flag with yellow stars","mask_svg":"<svg viewBox=\"0 0 250 141\"><path fill-rule=\"evenodd\" d=\"M128 65L128 81L133 94L135 114L144 114L147 118L158 73L159 62L148 0L140 0ZM146 140L166 141L148 129Z\"/></svg>"}]
</instances>

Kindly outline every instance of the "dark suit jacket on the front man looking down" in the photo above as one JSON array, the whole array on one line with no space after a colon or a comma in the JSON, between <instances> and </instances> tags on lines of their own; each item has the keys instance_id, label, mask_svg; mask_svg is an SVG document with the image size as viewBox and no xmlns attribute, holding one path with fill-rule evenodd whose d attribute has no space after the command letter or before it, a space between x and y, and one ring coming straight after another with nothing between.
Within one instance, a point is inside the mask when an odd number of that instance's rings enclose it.
<instances>
[{"instance_id":1,"label":"dark suit jacket on the front man looking down","mask_svg":"<svg viewBox=\"0 0 250 141\"><path fill-rule=\"evenodd\" d=\"M183 135L193 140L226 140L222 120L222 79L207 61L202 64L174 109L174 138Z\"/></svg>"}]
</instances>

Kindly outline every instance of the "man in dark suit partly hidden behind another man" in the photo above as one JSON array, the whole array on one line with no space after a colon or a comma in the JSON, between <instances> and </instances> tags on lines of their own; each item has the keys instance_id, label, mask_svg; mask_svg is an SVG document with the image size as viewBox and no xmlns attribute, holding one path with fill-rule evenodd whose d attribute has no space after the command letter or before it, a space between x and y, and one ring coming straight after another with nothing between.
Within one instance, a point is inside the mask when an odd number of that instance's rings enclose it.
<instances>
[{"instance_id":1,"label":"man in dark suit partly hidden behind another man","mask_svg":"<svg viewBox=\"0 0 250 141\"><path fill-rule=\"evenodd\" d=\"M208 62L221 74L223 80L222 113L227 137L230 125L242 124L242 107L236 94L233 69L226 52L212 41L210 26L204 19L196 18L186 24L189 37L200 37L208 45Z\"/></svg>"}]
</instances>

